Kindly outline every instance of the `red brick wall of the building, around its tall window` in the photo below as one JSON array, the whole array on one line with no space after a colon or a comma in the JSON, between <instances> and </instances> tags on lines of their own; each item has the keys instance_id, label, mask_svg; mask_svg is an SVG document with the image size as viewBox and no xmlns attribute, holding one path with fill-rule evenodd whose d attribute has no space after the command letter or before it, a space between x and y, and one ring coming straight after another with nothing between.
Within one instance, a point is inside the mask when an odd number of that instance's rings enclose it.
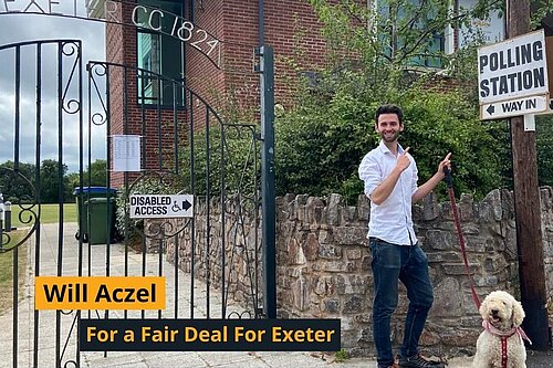
<instances>
[{"instance_id":1,"label":"red brick wall of the building, around its tall window","mask_svg":"<svg viewBox=\"0 0 553 368\"><path fill-rule=\"evenodd\" d=\"M118 2L123 17L131 23L134 3ZM189 2L185 2L187 12ZM259 9L254 0L210 0L196 1L195 31L204 29L221 41L221 63L218 69L198 50L186 44L186 84L210 104L226 120L259 118L259 74L253 72L254 48L259 45ZM119 8L121 11L121 8ZM275 103L290 104L293 94L291 81L298 78L296 72L285 63L285 57L300 56L300 69L317 70L324 63L325 42L320 36L320 23L311 7L303 0L265 0L265 44L273 46L275 57ZM301 36L299 36L301 34ZM196 33L195 33L196 35ZM192 38L190 41L194 41ZM136 65L136 29L115 24L106 25L106 55L109 62ZM127 122L125 122L124 92L127 94ZM115 67L109 71L111 93L111 134L144 135L146 144L146 168L158 168L159 139L164 147L173 144L173 128L164 128L158 137L158 122L171 122L173 112L148 112L146 132L142 132L142 111L137 104L136 76ZM205 125L201 116L202 103L192 101L195 107L195 128ZM238 111L238 114L230 114ZM186 117L179 116L185 120ZM126 123L126 124L125 124ZM186 124L186 122L184 122ZM170 124L169 124L170 126ZM136 175L131 175L135 178ZM123 174L112 174L112 185L123 183Z\"/></svg>"}]
</instances>

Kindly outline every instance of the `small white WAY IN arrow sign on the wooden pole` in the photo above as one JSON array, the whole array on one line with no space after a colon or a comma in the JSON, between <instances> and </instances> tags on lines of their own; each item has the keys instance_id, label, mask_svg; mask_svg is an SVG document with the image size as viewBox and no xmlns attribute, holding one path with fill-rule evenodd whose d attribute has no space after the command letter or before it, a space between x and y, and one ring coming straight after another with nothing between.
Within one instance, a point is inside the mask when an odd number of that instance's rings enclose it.
<instances>
[{"instance_id":1,"label":"small white WAY IN arrow sign on the wooden pole","mask_svg":"<svg viewBox=\"0 0 553 368\"><path fill-rule=\"evenodd\" d=\"M482 119L498 119L509 116L535 114L543 112L546 108L546 96L532 96L481 105L480 115Z\"/></svg>"}]
</instances>

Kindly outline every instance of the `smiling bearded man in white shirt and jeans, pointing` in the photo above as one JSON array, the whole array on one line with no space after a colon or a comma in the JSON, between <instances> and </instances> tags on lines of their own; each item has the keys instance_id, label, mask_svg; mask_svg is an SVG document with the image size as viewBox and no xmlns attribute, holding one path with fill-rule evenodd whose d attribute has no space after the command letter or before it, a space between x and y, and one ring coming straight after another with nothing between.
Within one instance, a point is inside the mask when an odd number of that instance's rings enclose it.
<instances>
[{"instance_id":1,"label":"smiling bearded man in white shirt and jeans, pointing","mask_svg":"<svg viewBox=\"0 0 553 368\"><path fill-rule=\"evenodd\" d=\"M399 367L442 368L441 362L426 360L418 351L434 293L428 260L413 228L411 203L422 199L444 179L444 168L450 167L451 154L439 164L438 171L427 182L417 187L415 159L409 155L409 147L404 149L398 144L404 130L403 118L398 106L378 107L375 130L380 135L380 144L363 158L358 170L365 182L365 194L371 199L368 239L374 276L373 334L378 368L397 367L389 337L399 280L409 298Z\"/></svg>"}]
</instances>

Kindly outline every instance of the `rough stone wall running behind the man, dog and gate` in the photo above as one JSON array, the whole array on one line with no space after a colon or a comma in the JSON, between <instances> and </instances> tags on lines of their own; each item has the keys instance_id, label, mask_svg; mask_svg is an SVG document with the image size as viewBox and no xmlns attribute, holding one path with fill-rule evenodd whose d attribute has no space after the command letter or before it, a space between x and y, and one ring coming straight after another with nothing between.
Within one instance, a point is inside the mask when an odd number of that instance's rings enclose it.
<instances>
[{"instance_id":1,"label":"rough stone wall running behind the man, dog and gate","mask_svg":"<svg viewBox=\"0 0 553 368\"><path fill-rule=\"evenodd\" d=\"M552 189L542 188L541 198L546 283L551 296ZM470 271L480 297L483 298L493 290L507 290L518 295L512 193L494 190L479 203L473 202L469 196L461 196L458 210ZM353 355L374 354L371 323L372 257L366 240L368 215L369 202L364 196L359 196L357 206L345 206L337 194L332 194L326 200L294 194L276 200L279 317L341 318L342 346ZM248 221L251 220L252 217L248 217ZM421 338L421 348L427 354L442 356L472 354L481 330L480 316L465 273L451 207L448 202L439 203L434 194L429 194L420 206L414 207L414 220L418 240L429 259L435 286L435 305ZM250 230L247 236L252 236L253 233ZM213 238L220 234L221 231L218 230L213 232ZM186 251L184 244L186 242L179 245L181 269L189 271L186 266L190 264L189 246ZM201 248L201 241L198 244ZM231 249L228 248L227 252L230 254ZM242 265L242 276L237 278L238 284L233 287L238 299L244 299L241 288L248 284L243 280L247 274L243 267L246 262L240 261L240 255L246 253L234 250L233 262L237 266ZM213 270L211 274L215 274L220 271L220 263L213 260L210 267ZM400 291L398 309L393 319L395 344L401 340L407 309L405 290Z\"/></svg>"}]
</instances>

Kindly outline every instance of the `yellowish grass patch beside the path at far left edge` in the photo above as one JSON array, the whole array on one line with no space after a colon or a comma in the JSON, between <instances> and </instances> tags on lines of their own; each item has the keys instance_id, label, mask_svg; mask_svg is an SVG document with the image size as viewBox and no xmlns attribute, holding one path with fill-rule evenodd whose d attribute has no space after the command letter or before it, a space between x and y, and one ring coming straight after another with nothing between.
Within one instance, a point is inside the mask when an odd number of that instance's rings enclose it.
<instances>
[{"instance_id":1,"label":"yellowish grass patch beside the path at far left edge","mask_svg":"<svg viewBox=\"0 0 553 368\"><path fill-rule=\"evenodd\" d=\"M23 236L24 231L12 231L11 240L6 245L18 243ZM27 270L27 242L18 248L18 275L19 275L19 292L24 283ZM11 308L13 304L13 256L15 251L0 253L0 314L6 309Z\"/></svg>"}]
</instances>

